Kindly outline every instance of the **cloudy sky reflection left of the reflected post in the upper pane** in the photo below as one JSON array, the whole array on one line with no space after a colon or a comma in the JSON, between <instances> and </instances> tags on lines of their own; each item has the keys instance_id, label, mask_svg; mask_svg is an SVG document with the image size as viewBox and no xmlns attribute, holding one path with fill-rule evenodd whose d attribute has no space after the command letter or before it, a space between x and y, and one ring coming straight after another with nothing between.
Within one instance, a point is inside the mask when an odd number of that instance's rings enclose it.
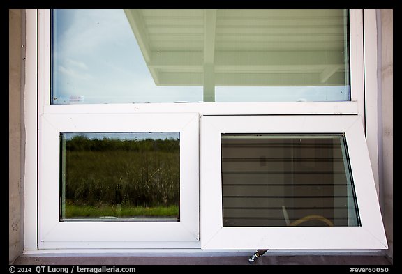
<instances>
[{"instance_id":1,"label":"cloudy sky reflection left of the reflected post in the upper pane","mask_svg":"<svg viewBox=\"0 0 402 274\"><path fill-rule=\"evenodd\" d=\"M83 96L86 103L202 100L200 86L156 86L123 10L56 10L54 29L53 97Z\"/></svg>"}]
</instances>

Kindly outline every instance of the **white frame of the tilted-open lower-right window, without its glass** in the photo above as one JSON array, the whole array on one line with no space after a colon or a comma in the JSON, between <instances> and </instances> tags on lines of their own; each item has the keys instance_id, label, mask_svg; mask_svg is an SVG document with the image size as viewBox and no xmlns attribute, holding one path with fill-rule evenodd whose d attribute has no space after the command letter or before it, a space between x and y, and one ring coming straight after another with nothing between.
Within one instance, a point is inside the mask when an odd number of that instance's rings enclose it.
<instances>
[{"instance_id":1,"label":"white frame of the tilted-open lower-right window, without its glass","mask_svg":"<svg viewBox=\"0 0 402 274\"><path fill-rule=\"evenodd\" d=\"M223 227L222 133L344 134L361 226ZM359 116L203 116L200 142L202 249L388 248Z\"/></svg>"}]
</instances>

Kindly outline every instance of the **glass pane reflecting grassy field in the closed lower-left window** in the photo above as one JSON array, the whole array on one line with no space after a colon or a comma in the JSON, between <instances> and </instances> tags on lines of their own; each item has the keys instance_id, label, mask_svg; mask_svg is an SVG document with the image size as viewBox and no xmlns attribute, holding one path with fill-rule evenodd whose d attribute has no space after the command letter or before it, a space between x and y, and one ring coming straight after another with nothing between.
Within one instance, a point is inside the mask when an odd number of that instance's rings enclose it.
<instances>
[{"instance_id":1,"label":"glass pane reflecting grassy field in the closed lower-left window","mask_svg":"<svg viewBox=\"0 0 402 274\"><path fill-rule=\"evenodd\" d=\"M60 139L61 221L179 222L179 132Z\"/></svg>"}]
</instances>

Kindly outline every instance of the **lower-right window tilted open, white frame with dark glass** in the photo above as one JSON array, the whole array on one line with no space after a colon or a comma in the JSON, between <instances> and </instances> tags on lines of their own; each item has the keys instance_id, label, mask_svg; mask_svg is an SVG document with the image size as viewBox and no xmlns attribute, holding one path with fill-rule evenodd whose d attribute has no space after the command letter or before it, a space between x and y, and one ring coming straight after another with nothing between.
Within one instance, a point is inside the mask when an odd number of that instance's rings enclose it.
<instances>
[{"instance_id":1,"label":"lower-right window tilted open, white frame with dark glass","mask_svg":"<svg viewBox=\"0 0 402 274\"><path fill-rule=\"evenodd\" d=\"M204 249L376 249L387 241L359 116L204 116Z\"/></svg>"}]
</instances>

